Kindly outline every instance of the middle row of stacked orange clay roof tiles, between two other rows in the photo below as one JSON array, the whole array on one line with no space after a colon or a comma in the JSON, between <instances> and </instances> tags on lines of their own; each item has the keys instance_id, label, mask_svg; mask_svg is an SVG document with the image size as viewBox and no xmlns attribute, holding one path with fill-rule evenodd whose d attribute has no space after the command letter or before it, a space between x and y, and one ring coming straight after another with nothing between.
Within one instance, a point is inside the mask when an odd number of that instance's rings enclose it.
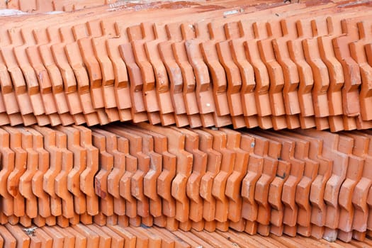
<instances>
[{"instance_id":1,"label":"middle row of stacked orange clay roof tiles, between two other rows","mask_svg":"<svg viewBox=\"0 0 372 248\"><path fill-rule=\"evenodd\" d=\"M35 125L4 126L0 140L3 224L232 229L344 242L372 230L370 130Z\"/></svg>"}]
</instances>

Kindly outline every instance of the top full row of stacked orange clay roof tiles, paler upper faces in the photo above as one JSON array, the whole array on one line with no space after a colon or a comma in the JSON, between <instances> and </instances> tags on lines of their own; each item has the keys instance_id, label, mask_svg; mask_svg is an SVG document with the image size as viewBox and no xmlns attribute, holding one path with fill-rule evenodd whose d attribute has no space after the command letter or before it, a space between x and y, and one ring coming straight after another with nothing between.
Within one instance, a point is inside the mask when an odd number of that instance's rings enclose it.
<instances>
[{"instance_id":1,"label":"top full row of stacked orange clay roof tiles, paler upper faces","mask_svg":"<svg viewBox=\"0 0 372 248\"><path fill-rule=\"evenodd\" d=\"M371 128L369 3L268 2L2 18L0 123Z\"/></svg>"}]
</instances>

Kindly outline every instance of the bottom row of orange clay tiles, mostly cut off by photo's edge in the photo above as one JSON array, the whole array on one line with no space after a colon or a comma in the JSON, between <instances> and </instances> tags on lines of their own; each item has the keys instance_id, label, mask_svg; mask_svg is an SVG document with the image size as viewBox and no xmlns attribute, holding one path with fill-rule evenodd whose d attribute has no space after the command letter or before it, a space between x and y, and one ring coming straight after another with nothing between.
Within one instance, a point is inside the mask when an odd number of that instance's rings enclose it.
<instances>
[{"instance_id":1,"label":"bottom row of orange clay tiles, mostly cut off by photo's edge","mask_svg":"<svg viewBox=\"0 0 372 248\"><path fill-rule=\"evenodd\" d=\"M71 227L0 226L0 247L60 248L187 248L187 247L344 247L346 243L327 243L308 237L262 237L244 232L169 231L161 227L123 227L120 225L72 225ZM352 241L347 247L371 247L372 240Z\"/></svg>"}]
</instances>

